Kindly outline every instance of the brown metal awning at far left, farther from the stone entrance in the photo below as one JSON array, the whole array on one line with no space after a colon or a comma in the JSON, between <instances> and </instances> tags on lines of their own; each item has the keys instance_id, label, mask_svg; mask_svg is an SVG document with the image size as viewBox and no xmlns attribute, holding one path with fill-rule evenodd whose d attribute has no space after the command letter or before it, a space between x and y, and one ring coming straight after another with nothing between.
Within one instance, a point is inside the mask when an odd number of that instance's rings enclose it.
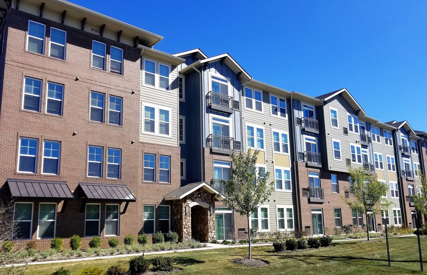
<instances>
[{"instance_id":1,"label":"brown metal awning at far left, farther from the stone entrance","mask_svg":"<svg viewBox=\"0 0 427 275\"><path fill-rule=\"evenodd\" d=\"M73 199L67 182L33 179L7 179L12 197Z\"/></svg>"}]
</instances>

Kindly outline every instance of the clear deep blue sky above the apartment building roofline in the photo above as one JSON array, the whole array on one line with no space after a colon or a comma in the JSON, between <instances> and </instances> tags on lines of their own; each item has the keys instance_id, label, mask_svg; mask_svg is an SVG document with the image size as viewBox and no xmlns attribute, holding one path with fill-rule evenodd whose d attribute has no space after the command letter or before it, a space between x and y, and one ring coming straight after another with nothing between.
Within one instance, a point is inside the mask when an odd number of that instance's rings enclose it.
<instances>
[{"instance_id":1,"label":"clear deep blue sky above the apartment building roofline","mask_svg":"<svg viewBox=\"0 0 427 275\"><path fill-rule=\"evenodd\" d=\"M310 96L345 87L369 116L427 131L427 1L70 1L163 36L155 49L228 52Z\"/></svg>"}]
</instances>

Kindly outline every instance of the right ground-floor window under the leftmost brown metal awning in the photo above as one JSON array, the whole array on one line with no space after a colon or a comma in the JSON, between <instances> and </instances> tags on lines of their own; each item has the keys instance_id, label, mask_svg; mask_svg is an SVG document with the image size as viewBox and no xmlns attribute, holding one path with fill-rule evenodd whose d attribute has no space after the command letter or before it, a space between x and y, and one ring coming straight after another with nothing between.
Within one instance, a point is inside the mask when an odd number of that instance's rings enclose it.
<instances>
[{"instance_id":1,"label":"right ground-floor window under the leftmost brown metal awning","mask_svg":"<svg viewBox=\"0 0 427 275\"><path fill-rule=\"evenodd\" d=\"M38 239L55 237L56 203L40 203L38 207Z\"/></svg>"}]
</instances>

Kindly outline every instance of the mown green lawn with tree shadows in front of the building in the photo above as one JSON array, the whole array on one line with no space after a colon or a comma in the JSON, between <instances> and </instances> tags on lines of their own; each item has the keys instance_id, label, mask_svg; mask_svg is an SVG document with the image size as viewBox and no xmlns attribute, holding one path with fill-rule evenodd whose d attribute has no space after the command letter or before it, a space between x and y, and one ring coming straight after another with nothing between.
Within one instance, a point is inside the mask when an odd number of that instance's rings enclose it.
<instances>
[{"instance_id":1,"label":"mown green lawn with tree shadows in front of the building","mask_svg":"<svg viewBox=\"0 0 427 275\"><path fill-rule=\"evenodd\" d=\"M418 262L418 244L416 237L391 238L390 257L392 266L387 266L386 241L380 243L361 243L348 241L334 243L333 247L306 250L293 253L272 252L272 246L256 246L252 257L269 262L265 267L243 267L230 260L243 258L247 248L212 249L195 252L176 252L166 254L173 257L177 267L183 269L180 275L187 274L421 274ZM424 253L424 268L427 270L427 240L421 239ZM155 255L147 255L153 258ZM61 266L77 274L87 266L99 266L106 269L118 261L127 263L129 258L80 261L71 263L41 264L29 266L25 274L50 274Z\"/></svg>"}]
</instances>

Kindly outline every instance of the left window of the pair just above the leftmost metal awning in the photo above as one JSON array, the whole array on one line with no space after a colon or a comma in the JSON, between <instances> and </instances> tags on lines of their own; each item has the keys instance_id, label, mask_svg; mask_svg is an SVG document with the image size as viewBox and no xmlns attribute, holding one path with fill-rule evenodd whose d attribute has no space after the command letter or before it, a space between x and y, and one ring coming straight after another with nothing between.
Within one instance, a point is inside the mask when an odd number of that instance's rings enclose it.
<instances>
[{"instance_id":1,"label":"left window of the pair just above the leftmost metal awning","mask_svg":"<svg viewBox=\"0 0 427 275\"><path fill-rule=\"evenodd\" d=\"M38 139L19 139L18 172L35 174L37 168Z\"/></svg>"}]
</instances>

